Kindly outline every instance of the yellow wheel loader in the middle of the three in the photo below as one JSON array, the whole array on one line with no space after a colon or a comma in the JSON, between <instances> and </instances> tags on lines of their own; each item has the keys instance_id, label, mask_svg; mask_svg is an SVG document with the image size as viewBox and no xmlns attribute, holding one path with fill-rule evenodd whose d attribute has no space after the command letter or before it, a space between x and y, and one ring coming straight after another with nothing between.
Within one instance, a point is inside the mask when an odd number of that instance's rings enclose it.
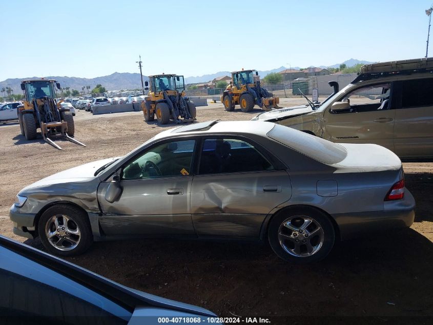
<instances>
[{"instance_id":1,"label":"yellow wheel loader in the middle of the three","mask_svg":"<svg viewBox=\"0 0 433 325\"><path fill-rule=\"evenodd\" d=\"M145 121L167 124L170 120L176 123L195 121L194 103L185 96L183 75L158 74L150 75L145 83L149 90L148 97L141 103Z\"/></svg>"}]
</instances>

